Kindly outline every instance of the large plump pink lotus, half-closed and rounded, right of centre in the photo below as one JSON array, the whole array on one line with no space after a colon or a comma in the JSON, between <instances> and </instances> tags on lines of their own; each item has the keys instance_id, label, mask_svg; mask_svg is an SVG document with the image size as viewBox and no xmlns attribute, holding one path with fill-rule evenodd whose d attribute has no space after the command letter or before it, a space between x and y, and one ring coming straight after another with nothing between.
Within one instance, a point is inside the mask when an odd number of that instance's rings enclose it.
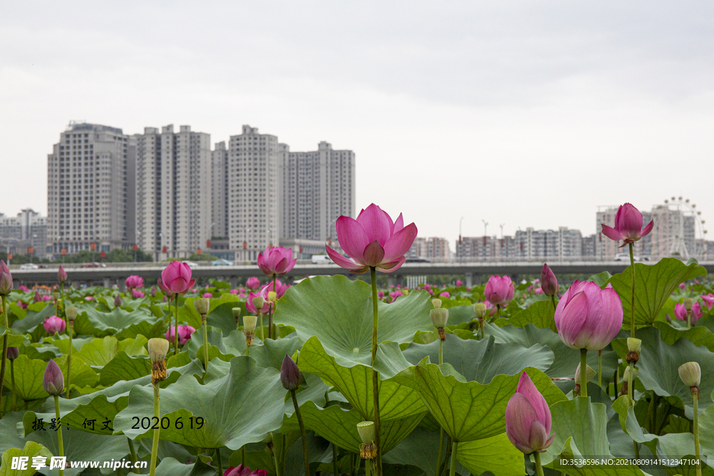
<instances>
[{"instance_id":1,"label":"large plump pink lotus, half-closed and rounded, right of centre","mask_svg":"<svg viewBox=\"0 0 714 476\"><path fill-rule=\"evenodd\" d=\"M623 303L613 287L575 281L555 308L560 340L573 349L600 350L623 325Z\"/></svg>"}]
</instances>

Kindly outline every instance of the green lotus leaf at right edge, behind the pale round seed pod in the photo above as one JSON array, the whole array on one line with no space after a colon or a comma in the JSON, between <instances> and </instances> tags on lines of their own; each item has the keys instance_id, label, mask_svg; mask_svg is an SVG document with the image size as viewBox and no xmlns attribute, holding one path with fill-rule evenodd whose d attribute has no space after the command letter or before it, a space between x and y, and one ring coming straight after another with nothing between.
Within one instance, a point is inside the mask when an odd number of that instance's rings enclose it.
<instances>
[{"instance_id":1,"label":"green lotus leaf at right edge, behind the pale round seed pod","mask_svg":"<svg viewBox=\"0 0 714 476\"><path fill-rule=\"evenodd\" d=\"M714 368L714 354L705 347L698 347L690 340L680 339L673 345L667 345L660 339L660 330L644 328L637 331L637 337L642 339L640 361L637 364L640 372L638 378L647 390L653 390L661 397L675 396L682 400L685 415L693 417L694 407L690 389L679 378L680 365L687 362L697 362L702 368L702 378L699 385L702 395L710 395L714 390L714 373L707 369ZM627 340L613 340L613 349L624 360L628 354ZM705 410L712 404L710 398L700 398L699 408Z\"/></svg>"}]
</instances>

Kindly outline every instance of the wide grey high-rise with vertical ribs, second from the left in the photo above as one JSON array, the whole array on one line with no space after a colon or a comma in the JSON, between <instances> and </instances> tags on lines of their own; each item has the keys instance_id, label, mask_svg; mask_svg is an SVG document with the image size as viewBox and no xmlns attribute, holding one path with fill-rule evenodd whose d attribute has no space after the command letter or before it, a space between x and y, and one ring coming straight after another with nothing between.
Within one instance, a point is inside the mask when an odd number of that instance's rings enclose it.
<instances>
[{"instance_id":1,"label":"wide grey high-rise with vertical ribs, second from the left","mask_svg":"<svg viewBox=\"0 0 714 476\"><path fill-rule=\"evenodd\" d=\"M186 258L211 238L211 135L146 127L136 141L136 242L156 259Z\"/></svg>"}]
</instances>

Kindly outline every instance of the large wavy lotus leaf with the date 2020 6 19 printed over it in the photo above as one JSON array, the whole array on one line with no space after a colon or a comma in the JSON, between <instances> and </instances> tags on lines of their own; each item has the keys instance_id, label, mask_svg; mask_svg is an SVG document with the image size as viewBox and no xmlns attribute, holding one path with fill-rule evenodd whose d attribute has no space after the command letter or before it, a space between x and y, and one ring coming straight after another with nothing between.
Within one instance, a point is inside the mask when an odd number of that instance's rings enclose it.
<instances>
[{"instance_id":1,"label":"large wavy lotus leaf with the date 2020 6 19 printed over it","mask_svg":"<svg viewBox=\"0 0 714 476\"><path fill-rule=\"evenodd\" d=\"M183 375L161 389L161 416L169 421L169 428L161 430L161 438L181 445L237 450L263 440L281 426L285 395L278 370L258 367L249 357L233 358L231 372L206 385L193 375ZM151 387L131 389L129 405L114 418L114 430L133 440L152 437L153 430L136 428L134 417L154 417ZM203 426L191 428L191 417L194 421L202 417ZM183 427L176 425L179 418Z\"/></svg>"}]
</instances>

